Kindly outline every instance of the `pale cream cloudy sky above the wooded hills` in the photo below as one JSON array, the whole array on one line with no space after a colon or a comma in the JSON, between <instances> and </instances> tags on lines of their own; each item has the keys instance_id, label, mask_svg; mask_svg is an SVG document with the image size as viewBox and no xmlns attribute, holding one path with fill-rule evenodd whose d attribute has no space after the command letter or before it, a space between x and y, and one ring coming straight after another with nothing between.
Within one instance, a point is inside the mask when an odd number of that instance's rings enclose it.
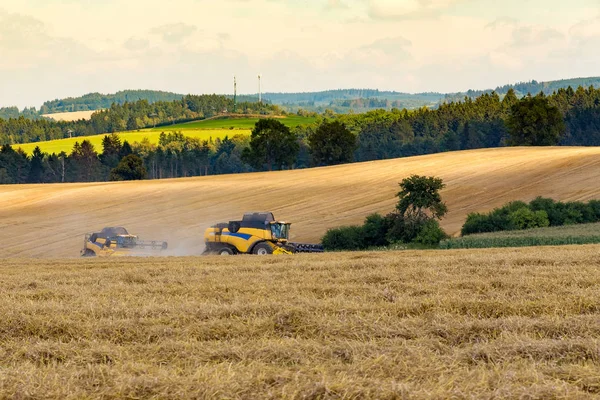
<instances>
[{"instance_id":1,"label":"pale cream cloudy sky above the wooded hills","mask_svg":"<svg viewBox=\"0 0 600 400\"><path fill-rule=\"evenodd\" d=\"M0 107L600 75L600 0L0 0Z\"/></svg>"}]
</instances>

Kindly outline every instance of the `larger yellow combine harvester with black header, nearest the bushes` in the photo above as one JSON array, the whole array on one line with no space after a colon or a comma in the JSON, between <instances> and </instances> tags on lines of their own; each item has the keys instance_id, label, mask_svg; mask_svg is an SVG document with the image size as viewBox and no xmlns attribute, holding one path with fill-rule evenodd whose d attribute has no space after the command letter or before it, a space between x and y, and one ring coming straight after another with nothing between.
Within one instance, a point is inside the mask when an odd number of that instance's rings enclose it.
<instances>
[{"instance_id":1,"label":"larger yellow combine harvester with black header, nearest the bushes","mask_svg":"<svg viewBox=\"0 0 600 400\"><path fill-rule=\"evenodd\" d=\"M275 221L271 212L244 214L241 221L220 223L204 233L203 254L321 253L323 246L289 242L290 223Z\"/></svg>"}]
</instances>

